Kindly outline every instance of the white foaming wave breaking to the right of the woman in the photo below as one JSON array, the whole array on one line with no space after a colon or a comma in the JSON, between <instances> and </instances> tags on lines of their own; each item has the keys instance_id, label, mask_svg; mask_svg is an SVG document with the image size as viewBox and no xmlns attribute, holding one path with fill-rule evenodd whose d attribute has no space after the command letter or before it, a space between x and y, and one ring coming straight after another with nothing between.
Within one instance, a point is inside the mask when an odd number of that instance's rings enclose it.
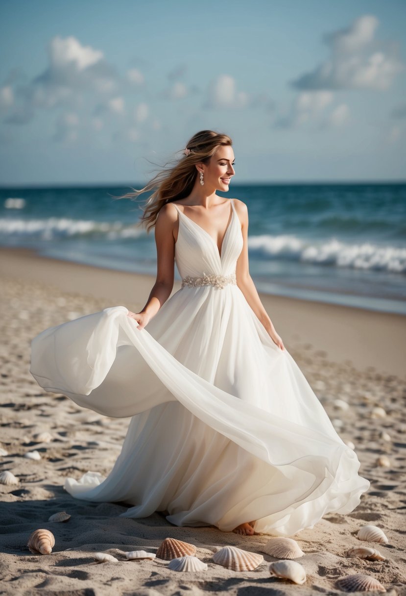
<instances>
[{"instance_id":1,"label":"white foaming wave breaking to the right of the woman","mask_svg":"<svg viewBox=\"0 0 406 596\"><path fill-rule=\"evenodd\" d=\"M406 272L406 247L382 246L370 242L349 244L336 238L316 242L289 234L250 236L248 247L250 252L260 257L352 269Z\"/></svg>"}]
</instances>

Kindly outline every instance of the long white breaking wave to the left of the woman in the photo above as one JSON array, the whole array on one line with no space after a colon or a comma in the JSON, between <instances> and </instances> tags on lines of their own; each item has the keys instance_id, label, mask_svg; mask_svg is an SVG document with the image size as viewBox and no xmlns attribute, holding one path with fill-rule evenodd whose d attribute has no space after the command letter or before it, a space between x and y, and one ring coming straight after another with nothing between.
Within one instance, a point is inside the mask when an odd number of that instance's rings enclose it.
<instances>
[{"instance_id":1,"label":"long white breaking wave to the left of the woman","mask_svg":"<svg viewBox=\"0 0 406 596\"><path fill-rule=\"evenodd\" d=\"M138 238L142 229L123 222L98 222L86 219L48 218L18 219L0 218L0 234L22 235L32 239L54 240L73 236L102 235L108 240Z\"/></svg>"}]
</instances>

